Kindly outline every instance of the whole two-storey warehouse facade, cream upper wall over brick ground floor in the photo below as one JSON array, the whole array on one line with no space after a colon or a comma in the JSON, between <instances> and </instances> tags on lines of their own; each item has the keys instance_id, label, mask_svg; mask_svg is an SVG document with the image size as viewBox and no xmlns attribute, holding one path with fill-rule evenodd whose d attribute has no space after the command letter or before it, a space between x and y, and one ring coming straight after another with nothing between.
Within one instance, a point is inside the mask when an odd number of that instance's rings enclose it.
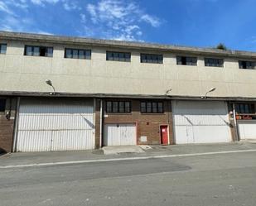
<instances>
[{"instance_id":1,"label":"whole two-storey warehouse facade, cream upper wall over brick ground floor","mask_svg":"<svg viewBox=\"0 0 256 206\"><path fill-rule=\"evenodd\" d=\"M256 138L256 53L6 31L0 45L2 151Z\"/></svg>"}]
</instances>

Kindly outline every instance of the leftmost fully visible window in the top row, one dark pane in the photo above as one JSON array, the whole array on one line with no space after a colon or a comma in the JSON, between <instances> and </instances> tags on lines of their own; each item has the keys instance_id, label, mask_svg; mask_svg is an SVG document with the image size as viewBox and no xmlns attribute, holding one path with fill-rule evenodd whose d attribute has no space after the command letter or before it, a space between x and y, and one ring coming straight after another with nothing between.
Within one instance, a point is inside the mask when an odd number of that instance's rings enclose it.
<instances>
[{"instance_id":1,"label":"leftmost fully visible window in the top row, one dark pane","mask_svg":"<svg viewBox=\"0 0 256 206\"><path fill-rule=\"evenodd\" d=\"M46 46L25 46L24 55L52 57L53 48Z\"/></svg>"}]
</instances>

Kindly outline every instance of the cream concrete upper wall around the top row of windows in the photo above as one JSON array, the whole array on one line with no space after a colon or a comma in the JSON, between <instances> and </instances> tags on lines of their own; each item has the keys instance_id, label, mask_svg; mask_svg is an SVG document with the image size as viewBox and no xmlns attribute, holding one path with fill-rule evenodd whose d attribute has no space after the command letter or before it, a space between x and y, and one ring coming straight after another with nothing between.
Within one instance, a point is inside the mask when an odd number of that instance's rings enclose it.
<instances>
[{"instance_id":1,"label":"cream concrete upper wall around the top row of windows","mask_svg":"<svg viewBox=\"0 0 256 206\"><path fill-rule=\"evenodd\" d=\"M7 55L0 55L0 91L50 92L51 79L57 92L123 93L202 96L256 97L256 70L239 69L238 60L225 59L224 68L205 67L200 56L197 66L176 65L176 55L165 53L162 65L140 63L140 52L132 50L131 62L106 61L106 50L91 48L91 60L65 59L65 47L31 42L3 41ZM54 46L53 58L24 56L25 45ZM115 49L116 50L116 49ZM120 49L120 51L122 51ZM127 50L124 50L127 51ZM150 52L152 53L152 52Z\"/></svg>"}]
</instances>

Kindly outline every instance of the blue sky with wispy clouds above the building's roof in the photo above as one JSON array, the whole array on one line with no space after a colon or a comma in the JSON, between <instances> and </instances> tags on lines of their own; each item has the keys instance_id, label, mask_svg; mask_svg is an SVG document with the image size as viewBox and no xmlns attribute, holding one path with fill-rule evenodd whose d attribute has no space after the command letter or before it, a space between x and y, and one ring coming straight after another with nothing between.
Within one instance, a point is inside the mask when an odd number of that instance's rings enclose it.
<instances>
[{"instance_id":1,"label":"blue sky with wispy clouds above the building's roof","mask_svg":"<svg viewBox=\"0 0 256 206\"><path fill-rule=\"evenodd\" d=\"M0 30L256 51L255 0L0 0Z\"/></svg>"}]
</instances>

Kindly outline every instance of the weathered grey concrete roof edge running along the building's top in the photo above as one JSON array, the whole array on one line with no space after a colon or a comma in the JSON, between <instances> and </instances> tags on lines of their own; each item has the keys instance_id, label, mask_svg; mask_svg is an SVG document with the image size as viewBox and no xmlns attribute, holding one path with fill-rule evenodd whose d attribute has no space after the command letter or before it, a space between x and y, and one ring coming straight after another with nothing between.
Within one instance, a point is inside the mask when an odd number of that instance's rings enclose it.
<instances>
[{"instance_id":1,"label":"weathered grey concrete roof edge running along the building's top","mask_svg":"<svg viewBox=\"0 0 256 206\"><path fill-rule=\"evenodd\" d=\"M37 41L37 42L51 42L59 44L84 44L90 46L104 46L104 47L116 47L116 48L130 48L136 50L155 50L166 52L181 52L191 53L197 55L220 55L228 57L240 57L240 58L256 58L256 52L241 51L241 50L218 50L214 48L201 48L191 46L172 46L156 43L143 43L136 41L115 41L94 39L85 37L73 37L73 36L54 36L45 34L32 34L23 32L12 31L0 31L0 39L12 40L12 41Z\"/></svg>"}]
</instances>

